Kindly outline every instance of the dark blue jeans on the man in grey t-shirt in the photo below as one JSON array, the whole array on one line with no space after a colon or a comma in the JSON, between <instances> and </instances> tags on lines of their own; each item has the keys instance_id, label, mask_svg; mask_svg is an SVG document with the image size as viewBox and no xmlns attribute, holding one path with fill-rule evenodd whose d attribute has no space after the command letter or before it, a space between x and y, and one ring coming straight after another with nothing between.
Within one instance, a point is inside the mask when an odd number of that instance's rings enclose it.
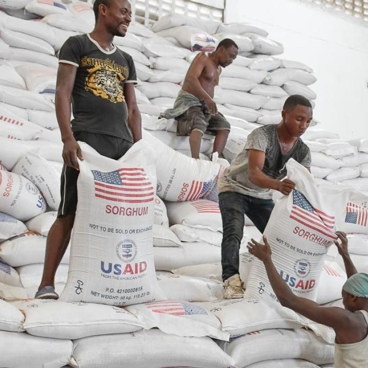
<instances>
[{"instance_id":1,"label":"dark blue jeans on the man in grey t-shirt","mask_svg":"<svg viewBox=\"0 0 368 368\"><path fill-rule=\"evenodd\" d=\"M222 280L239 273L239 249L243 238L244 214L263 234L274 203L272 199L260 199L236 192L219 194L222 217L221 264Z\"/></svg>"}]
</instances>

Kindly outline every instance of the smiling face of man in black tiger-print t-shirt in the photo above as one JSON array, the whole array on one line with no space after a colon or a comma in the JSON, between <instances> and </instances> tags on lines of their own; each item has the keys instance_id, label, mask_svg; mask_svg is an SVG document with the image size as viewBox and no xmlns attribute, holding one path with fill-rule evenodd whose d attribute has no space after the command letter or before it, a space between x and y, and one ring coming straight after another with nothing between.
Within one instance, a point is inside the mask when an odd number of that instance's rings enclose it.
<instances>
[{"instance_id":1,"label":"smiling face of man in black tiger-print t-shirt","mask_svg":"<svg viewBox=\"0 0 368 368\"><path fill-rule=\"evenodd\" d=\"M130 3L110 0L108 5L100 5L99 11L106 29L114 36L124 37L131 22Z\"/></svg>"}]
</instances>

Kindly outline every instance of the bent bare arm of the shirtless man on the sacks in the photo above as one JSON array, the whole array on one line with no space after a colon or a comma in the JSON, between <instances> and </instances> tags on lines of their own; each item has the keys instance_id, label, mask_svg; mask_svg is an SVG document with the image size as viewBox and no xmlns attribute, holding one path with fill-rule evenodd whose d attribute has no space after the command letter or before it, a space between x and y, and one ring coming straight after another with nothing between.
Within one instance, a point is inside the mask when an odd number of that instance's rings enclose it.
<instances>
[{"instance_id":1,"label":"bent bare arm of the shirtless man on the sacks","mask_svg":"<svg viewBox=\"0 0 368 368\"><path fill-rule=\"evenodd\" d=\"M199 82L199 77L201 76L207 61L207 56L203 53L200 53L194 58L192 64L188 69L183 84L183 89L198 97L199 99L204 100L205 104L209 108L209 111L212 114L215 114L217 112L216 104L213 101L212 97L208 93L206 93Z\"/></svg>"}]
</instances>

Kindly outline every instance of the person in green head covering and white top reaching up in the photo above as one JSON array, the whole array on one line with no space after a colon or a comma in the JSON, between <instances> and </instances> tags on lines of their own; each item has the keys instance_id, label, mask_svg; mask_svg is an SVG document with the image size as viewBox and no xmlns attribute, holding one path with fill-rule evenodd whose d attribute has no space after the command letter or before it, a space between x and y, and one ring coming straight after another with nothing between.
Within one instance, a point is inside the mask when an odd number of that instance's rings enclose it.
<instances>
[{"instance_id":1,"label":"person in green head covering and white top reaching up","mask_svg":"<svg viewBox=\"0 0 368 368\"><path fill-rule=\"evenodd\" d=\"M336 235L339 241L336 240L335 245L344 261L348 276L341 291L344 308L324 307L294 295L272 263L271 248L265 236L264 244L251 239L248 249L250 254L264 263L272 289L282 306L334 329L335 368L366 368L368 367L368 274L357 272L348 252L346 234L337 232Z\"/></svg>"}]
</instances>

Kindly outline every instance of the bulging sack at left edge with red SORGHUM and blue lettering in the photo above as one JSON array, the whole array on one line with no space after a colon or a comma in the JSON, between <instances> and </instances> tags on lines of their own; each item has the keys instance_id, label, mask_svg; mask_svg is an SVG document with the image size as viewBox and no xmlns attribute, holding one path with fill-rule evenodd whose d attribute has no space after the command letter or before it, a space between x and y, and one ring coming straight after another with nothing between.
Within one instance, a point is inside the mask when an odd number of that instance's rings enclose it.
<instances>
[{"instance_id":1,"label":"bulging sack at left edge with red SORGHUM and blue lettering","mask_svg":"<svg viewBox=\"0 0 368 368\"><path fill-rule=\"evenodd\" d=\"M0 178L0 191L3 193L1 212L21 221L45 212L45 200L30 180L7 171L0 171Z\"/></svg>"}]
</instances>

